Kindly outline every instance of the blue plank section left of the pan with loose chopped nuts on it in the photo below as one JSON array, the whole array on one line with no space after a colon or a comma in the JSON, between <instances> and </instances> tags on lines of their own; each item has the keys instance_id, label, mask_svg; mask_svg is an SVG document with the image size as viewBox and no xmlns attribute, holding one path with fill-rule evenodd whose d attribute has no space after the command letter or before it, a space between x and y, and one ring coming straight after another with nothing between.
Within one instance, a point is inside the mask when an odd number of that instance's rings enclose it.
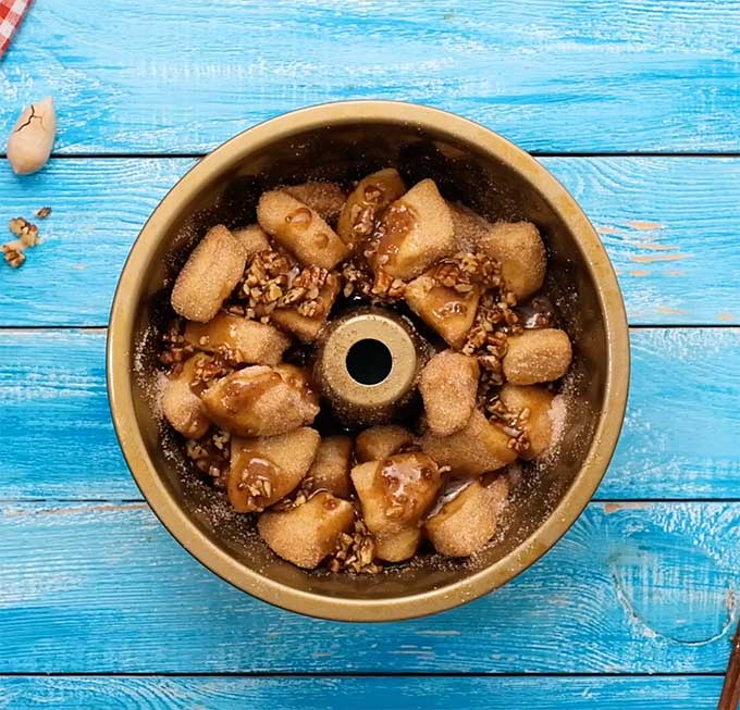
<instances>
[{"instance_id":1,"label":"blue plank section left of the pan with loose chopped nuts on it","mask_svg":"<svg viewBox=\"0 0 740 710\"><path fill-rule=\"evenodd\" d=\"M131 245L159 200L193 164L58 160L22 179L3 164L3 217L35 221L45 241L27 252L21 269L0 264L0 324L107 325ZM52 208L51 215L35 220L45 205Z\"/></svg>"}]
</instances>

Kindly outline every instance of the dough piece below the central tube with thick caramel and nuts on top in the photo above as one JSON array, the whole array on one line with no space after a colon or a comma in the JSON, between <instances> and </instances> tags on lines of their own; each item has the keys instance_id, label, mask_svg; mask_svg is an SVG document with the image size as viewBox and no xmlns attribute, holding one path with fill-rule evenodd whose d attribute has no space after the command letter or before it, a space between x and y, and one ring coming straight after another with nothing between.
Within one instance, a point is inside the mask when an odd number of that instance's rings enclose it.
<instances>
[{"instance_id":1,"label":"dough piece below the central tube with thick caramel and nuts on top","mask_svg":"<svg viewBox=\"0 0 740 710\"><path fill-rule=\"evenodd\" d=\"M368 530L386 537L416 527L442 486L436 463L420 451L396 453L351 470Z\"/></svg>"}]
</instances>

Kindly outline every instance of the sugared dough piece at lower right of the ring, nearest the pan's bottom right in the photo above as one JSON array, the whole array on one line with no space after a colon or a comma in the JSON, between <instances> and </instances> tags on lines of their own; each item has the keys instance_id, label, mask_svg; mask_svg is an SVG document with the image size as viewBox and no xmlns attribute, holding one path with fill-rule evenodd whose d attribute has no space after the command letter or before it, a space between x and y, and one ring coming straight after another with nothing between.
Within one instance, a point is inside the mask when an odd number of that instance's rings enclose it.
<instances>
[{"instance_id":1,"label":"sugared dough piece at lower right of the ring, nearest the pan's bottom right","mask_svg":"<svg viewBox=\"0 0 740 710\"><path fill-rule=\"evenodd\" d=\"M508 497L508 482L496 478L488 486L473 481L427 521L434 549L447 557L469 557L493 537Z\"/></svg>"}]
</instances>

